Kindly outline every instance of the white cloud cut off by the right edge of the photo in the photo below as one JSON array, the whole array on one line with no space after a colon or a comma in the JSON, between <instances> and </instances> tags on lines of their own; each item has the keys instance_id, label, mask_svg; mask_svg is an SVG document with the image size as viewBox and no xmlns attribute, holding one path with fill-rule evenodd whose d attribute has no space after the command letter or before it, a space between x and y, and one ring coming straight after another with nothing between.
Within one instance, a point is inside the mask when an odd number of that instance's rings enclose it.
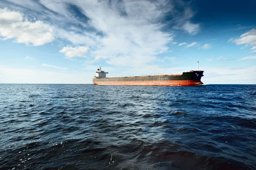
<instances>
[{"instance_id":1,"label":"white cloud cut off by the right edge of the photo","mask_svg":"<svg viewBox=\"0 0 256 170\"><path fill-rule=\"evenodd\" d=\"M256 45L256 29L251 29L250 31L242 34L237 39L231 38L229 42L235 42L236 45L240 45L240 44Z\"/></svg>"}]
</instances>

